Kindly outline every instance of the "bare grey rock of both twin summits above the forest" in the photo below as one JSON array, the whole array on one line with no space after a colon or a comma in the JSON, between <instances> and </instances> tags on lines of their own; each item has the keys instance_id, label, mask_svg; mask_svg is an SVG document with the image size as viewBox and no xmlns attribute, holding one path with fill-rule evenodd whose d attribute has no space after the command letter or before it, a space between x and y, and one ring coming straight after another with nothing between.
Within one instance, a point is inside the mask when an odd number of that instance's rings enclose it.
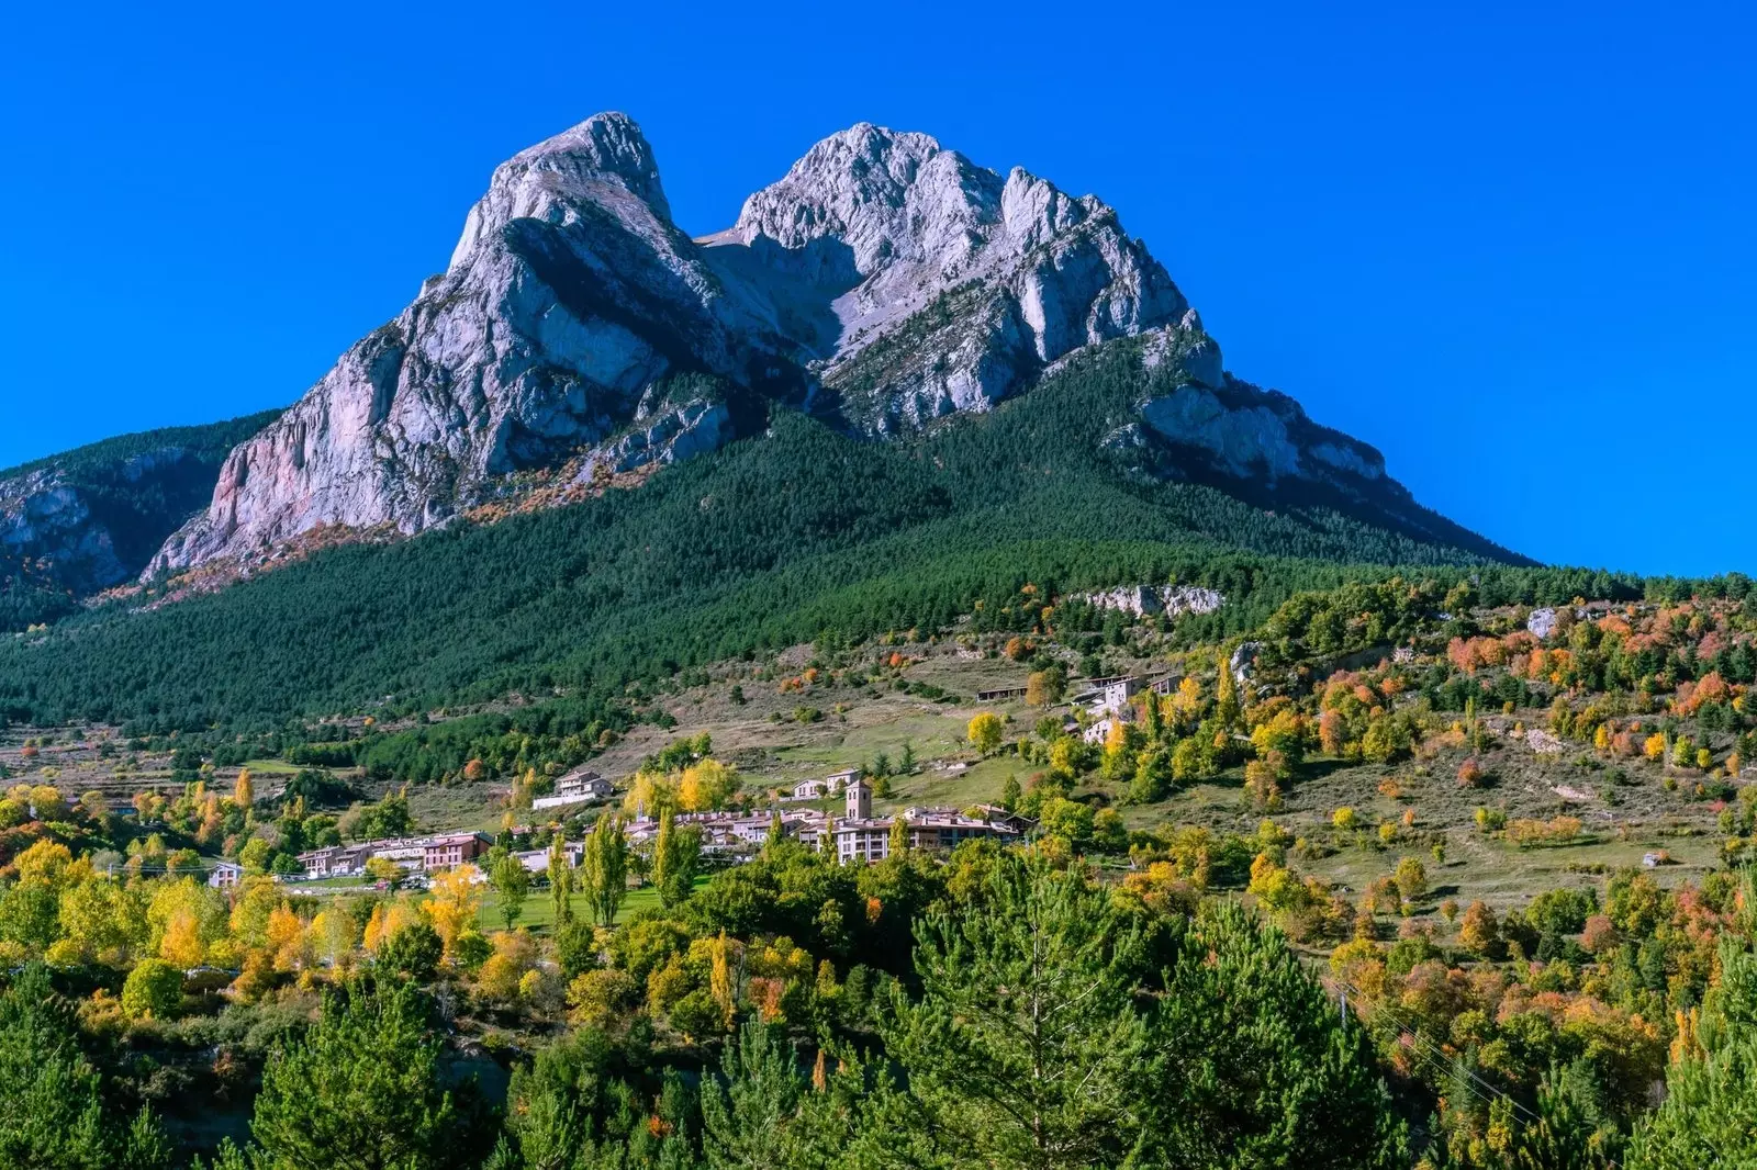
<instances>
[{"instance_id":1,"label":"bare grey rock of both twin summits above the forest","mask_svg":"<svg viewBox=\"0 0 1757 1170\"><path fill-rule=\"evenodd\" d=\"M773 406L907 436L1126 337L1177 383L1109 443L1418 511L1370 446L1228 376L1098 199L861 123L691 239L640 126L597 114L495 169L450 267L232 450L149 571L249 560L318 525L418 532L511 473L687 459Z\"/></svg>"}]
</instances>

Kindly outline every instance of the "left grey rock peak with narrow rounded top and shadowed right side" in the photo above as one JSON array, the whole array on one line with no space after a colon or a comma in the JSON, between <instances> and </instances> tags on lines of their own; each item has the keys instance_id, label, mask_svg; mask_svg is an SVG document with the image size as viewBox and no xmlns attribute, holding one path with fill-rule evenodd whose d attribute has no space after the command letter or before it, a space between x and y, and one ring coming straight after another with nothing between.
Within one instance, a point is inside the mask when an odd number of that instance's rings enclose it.
<instances>
[{"instance_id":1,"label":"left grey rock peak with narrow rounded top and shadowed right side","mask_svg":"<svg viewBox=\"0 0 1757 1170\"><path fill-rule=\"evenodd\" d=\"M590 118L495 169L445 274L232 451L153 567L248 559L320 524L439 524L497 476L615 439L668 378L761 381L796 350L766 309L671 223L640 128ZM668 459L727 432L647 427L634 446Z\"/></svg>"}]
</instances>

